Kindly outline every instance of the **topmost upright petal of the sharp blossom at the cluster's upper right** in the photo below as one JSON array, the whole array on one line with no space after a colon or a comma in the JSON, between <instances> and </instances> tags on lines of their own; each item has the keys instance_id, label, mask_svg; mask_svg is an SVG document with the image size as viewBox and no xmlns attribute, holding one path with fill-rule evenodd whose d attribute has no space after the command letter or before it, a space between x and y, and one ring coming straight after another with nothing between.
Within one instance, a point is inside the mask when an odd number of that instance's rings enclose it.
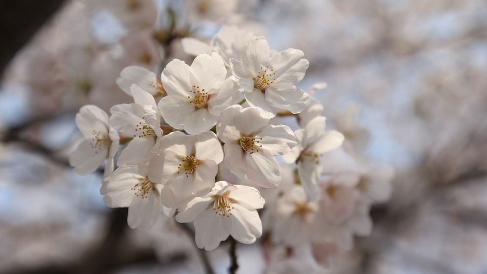
<instances>
[{"instance_id":1,"label":"topmost upright petal of the sharp blossom at the cluster's upper right","mask_svg":"<svg viewBox=\"0 0 487 274\"><path fill-rule=\"evenodd\" d=\"M270 48L263 36L253 37L245 47L242 62L255 75L270 59ZM254 76L254 75L251 75Z\"/></svg>"}]
</instances>

